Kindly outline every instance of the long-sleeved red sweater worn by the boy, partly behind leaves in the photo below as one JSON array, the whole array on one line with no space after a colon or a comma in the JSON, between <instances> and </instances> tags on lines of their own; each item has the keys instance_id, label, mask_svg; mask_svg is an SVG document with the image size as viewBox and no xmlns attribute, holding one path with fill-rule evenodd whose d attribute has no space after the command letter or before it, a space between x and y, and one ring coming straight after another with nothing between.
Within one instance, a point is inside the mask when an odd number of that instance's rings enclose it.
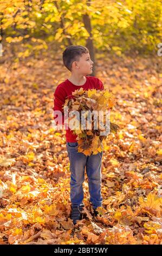
<instances>
[{"instance_id":1,"label":"long-sleeved red sweater worn by the boy, partly behind leaves","mask_svg":"<svg viewBox=\"0 0 162 256\"><path fill-rule=\"evenodd\" d=\"M81 87L84 90L88 89L97 89L97 90L103 90L103 84L99 78L95 76L86 76L87 80L86 83L83 84L83 86L75 86L72 82L70 82L68 79L64 82L60 83L55 90L54 93L54 111L60 110L62 112L62 120L59 120L57 123L64 124L64 117L63 117L63 105L66 99L72 99L74 96L72 95L72 92L74 92L77 89L80 89ZM58 116L54 117L57 118ZM56 124L57 124L56 123ZM77 142L76 140L77 135L73 135L73 131L71 131L68 127L68 130L66 130L66 142Z\"/></svg>"}]
</instances>

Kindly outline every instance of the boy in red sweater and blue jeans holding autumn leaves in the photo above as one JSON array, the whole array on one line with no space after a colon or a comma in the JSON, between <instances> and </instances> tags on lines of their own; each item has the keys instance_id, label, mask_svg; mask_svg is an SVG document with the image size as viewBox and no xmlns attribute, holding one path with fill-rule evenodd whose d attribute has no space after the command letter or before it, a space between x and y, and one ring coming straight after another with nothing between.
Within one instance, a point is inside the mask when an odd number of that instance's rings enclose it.
<instances>
[{"instance_id":1,"label":"boy in red sweater and blue jeans holding autumn leaves","mask_svg":"<svg viewBox=\"0 0 162 256\"><path fill-rule=\"evenodd\" d=\"M103 90L103 84L99 78L87 76L92 74L93 61L90 59L89 51L81 45L70 45L64 50L63 64L71 72L71 76L60 83L54 93L54 111L61 111L63 114L63 105L66 99L73 98L72 92L83 88ZM54 117L55 119L55 117ZM64 120L58 121L59 124L64 124ZM76 224L77 220L82 219L83 206L83 188L82 183L85 180L85 167L88 177L88 186L90 194L90 203L93 206L94 214L98 211L95 209L102 206L101 195L101 163L102 155L98 153L86 156L79 153L76 135L73 131L66 130L66 147L70 161L70 200L72 212L70 218Z\"/></svg>"}]
</instances>

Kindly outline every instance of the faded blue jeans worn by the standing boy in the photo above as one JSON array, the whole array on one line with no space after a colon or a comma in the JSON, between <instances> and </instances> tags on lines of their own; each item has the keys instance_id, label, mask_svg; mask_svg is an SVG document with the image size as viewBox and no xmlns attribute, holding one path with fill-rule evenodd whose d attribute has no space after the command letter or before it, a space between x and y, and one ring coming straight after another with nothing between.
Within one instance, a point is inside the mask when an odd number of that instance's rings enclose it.
<instances>
[{"instance_id":1,"label":"faded blue jeans worn by the standing boy","mask_svg":"<svg viewBox=\"0 0 162 256\"><path fill-rule=\"evenodd\" d=\"M77 142L67 142L66 147L70 160L70 200L72 208L80 205L84 197L82 184L85 181L85 167L88 177L90 203L94 209L102 206L101 163L103 151L96 155L86 156L78 152Z\"/></svg>"}]
</instances>

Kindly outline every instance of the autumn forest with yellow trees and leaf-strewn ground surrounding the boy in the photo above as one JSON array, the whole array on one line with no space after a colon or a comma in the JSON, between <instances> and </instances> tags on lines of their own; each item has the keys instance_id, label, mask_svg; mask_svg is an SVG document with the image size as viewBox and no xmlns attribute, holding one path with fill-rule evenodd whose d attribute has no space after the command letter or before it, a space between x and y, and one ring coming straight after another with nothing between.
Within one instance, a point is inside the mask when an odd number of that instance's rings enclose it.
<instances>
[{"instance_id":1,"label":"autumn forest with yellow trees and leaf-strewn ground surrounding the boy","mask_svg":"<svg viewBox=\"0 0 162 256\"><path fill-rule=\"evenodd\" d=\"M161 244L161 1L0 1L0 32L0 244ZM104 142L103 208L92 215L85 173L75 227L65 131L51 126L68 45L88 47L120 126Z\"/></svg>"}]
</instances>

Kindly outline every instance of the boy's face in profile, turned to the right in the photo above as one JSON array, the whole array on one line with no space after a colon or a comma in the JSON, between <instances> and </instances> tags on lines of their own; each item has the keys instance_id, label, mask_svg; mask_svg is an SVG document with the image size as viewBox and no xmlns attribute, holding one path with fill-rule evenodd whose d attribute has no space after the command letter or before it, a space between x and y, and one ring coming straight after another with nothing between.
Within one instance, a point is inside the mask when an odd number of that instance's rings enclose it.
<instances>
[{"instance_id":1,"label":"boy's face in profile, turned to the right","mask_svg":"<svg viewBox=\"0 0 162 256\"><path fill-rule=\"evenodd\" d=\"M82 75L92 74L93 61L90 59L89 53L83 53L79 58L79 62L73 62L73 70Z\"/></svg>"}]
</instances>

